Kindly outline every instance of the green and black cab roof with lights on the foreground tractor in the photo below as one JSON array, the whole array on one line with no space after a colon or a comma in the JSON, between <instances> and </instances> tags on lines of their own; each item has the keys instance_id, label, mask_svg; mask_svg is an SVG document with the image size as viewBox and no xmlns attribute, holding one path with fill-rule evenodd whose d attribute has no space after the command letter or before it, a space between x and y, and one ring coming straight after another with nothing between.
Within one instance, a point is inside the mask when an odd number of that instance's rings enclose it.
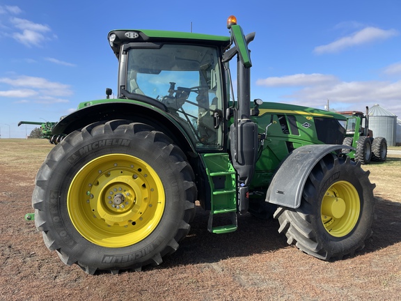
<instances>
[{"instance_id":1,"label":"green and black cab roof with lights on the foreground tractor","mask_svg":"<svg viewBox=\"0 0 401 301\"><path fill-rule=\"evenodd\" d=\"M110 31L107 37L117 58L120 55L120 46L126 43L195 43L219 47L228 47L231 43L228 36L147 29L117 29Z\"/></svg>"}]
</instances>

